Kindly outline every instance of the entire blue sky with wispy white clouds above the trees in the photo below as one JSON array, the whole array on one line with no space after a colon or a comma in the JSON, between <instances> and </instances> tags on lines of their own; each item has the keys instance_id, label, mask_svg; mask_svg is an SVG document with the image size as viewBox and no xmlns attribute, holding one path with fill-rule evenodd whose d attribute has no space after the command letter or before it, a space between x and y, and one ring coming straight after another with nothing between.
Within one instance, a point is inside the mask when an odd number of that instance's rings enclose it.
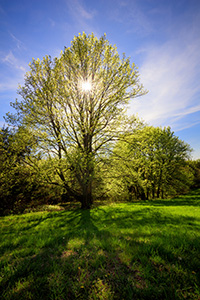
<instances>
[{"instance_id":1,"label":"entire blue sky with wispy white clouds above the trees","mask_svg":"<svg viewBox=\"0 0 200 300\"><path fill-rule=\"evenodd\" d=\"M171 126L200 158L199 0L0 0L0 126L32 58L59 56L83 31L137 65L149 93L129 112Z\"/></svg>"}]
</instances>

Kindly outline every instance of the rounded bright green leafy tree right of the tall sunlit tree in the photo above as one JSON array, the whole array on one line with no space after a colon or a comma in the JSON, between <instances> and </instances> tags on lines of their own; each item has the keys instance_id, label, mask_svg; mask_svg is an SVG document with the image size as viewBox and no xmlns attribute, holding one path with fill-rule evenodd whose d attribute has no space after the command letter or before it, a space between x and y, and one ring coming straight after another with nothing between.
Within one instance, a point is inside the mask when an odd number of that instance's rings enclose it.
<instances>
[{"instance_id":1,"label":"rounded bright green leafy tree right of the tall sunlit tree","mask_svg":"<svg viewBox=\"0 0 200 300\"><path fill-rule=\"evenodd\" d=\"M121 186L130 199L163 198L187 192L193 181L187 164L190 151L189 145L176 137L170 127L143 126L115 147L111 159L115 185Z\"/></svg>"}]
</instances>

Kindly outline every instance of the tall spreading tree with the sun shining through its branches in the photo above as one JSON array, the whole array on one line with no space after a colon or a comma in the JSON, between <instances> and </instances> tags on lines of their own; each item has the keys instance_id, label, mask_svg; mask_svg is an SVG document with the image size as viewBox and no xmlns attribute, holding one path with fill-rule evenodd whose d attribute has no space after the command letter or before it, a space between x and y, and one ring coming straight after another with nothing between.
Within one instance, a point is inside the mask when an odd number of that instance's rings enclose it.
<instances>
[{"instance_id":1,"label":"tall spreading tree with the sun shining through its branches","mask_svg":"<svg viewBox=\"0 0 200 300\"><path fill-rule=\"evenodd\" d=\"M89 208L97 154L128 130L125 108L144 93L129 58L120 58L105 35L83 33L59 58L33 59L19 88L22 100L12 103L17 113L8 114L7 122L28 128L42 156L56 158L54 168L67 194Z\"/></svg>"}]
</instances>

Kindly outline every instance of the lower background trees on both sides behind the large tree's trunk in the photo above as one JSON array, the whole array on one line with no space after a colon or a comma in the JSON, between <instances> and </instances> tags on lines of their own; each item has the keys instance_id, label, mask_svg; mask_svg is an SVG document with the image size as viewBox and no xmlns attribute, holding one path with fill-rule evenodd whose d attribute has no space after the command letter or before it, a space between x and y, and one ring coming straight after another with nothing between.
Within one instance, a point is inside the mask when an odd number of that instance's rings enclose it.
<instances>
[{"instance_id":1,"label":"lower background trees on both sides behind the large tree's trunk","mask_svg":"<svg viewBox=\"0 0 200 300\"><path fill-rule=\"evenodd\" d=\"M38 204L80 201L65 189L58 174L57 157L42 157L36 140L28 137L24 130L0 130L1 215L23 212ZM173 197L200 187L200 160L190 160L190 151L189 145L169 127L141 128L140 123L132 135L121 136L94 161L93 198L148 200ZM75 161L76 153L71 155L75 155ZM79 190L74 168L67 159L62 163L68 184Z\"/></svg>"}]
</instances>

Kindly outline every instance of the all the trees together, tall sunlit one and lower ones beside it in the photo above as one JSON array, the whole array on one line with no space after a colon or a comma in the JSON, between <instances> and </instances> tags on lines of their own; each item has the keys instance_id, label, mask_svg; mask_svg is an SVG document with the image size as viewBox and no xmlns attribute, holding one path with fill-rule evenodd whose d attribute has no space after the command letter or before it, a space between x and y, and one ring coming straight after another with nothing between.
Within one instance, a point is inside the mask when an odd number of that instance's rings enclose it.
<instances>
[{"instance_id":1,"label":"all the trees together, tall sunlit one and lower ones beside it","mask_svg":"<svg viewBox=\"0 0 200 300\"><path fill-rule=\"evenodd\" d=\"M199 184L189 145L126 115L146 91L105 35L79 34L60 57L29 66L0 131L1 213L37 201L86 209L98 198L145 200Z\"/></svg>"}]
</instances>

